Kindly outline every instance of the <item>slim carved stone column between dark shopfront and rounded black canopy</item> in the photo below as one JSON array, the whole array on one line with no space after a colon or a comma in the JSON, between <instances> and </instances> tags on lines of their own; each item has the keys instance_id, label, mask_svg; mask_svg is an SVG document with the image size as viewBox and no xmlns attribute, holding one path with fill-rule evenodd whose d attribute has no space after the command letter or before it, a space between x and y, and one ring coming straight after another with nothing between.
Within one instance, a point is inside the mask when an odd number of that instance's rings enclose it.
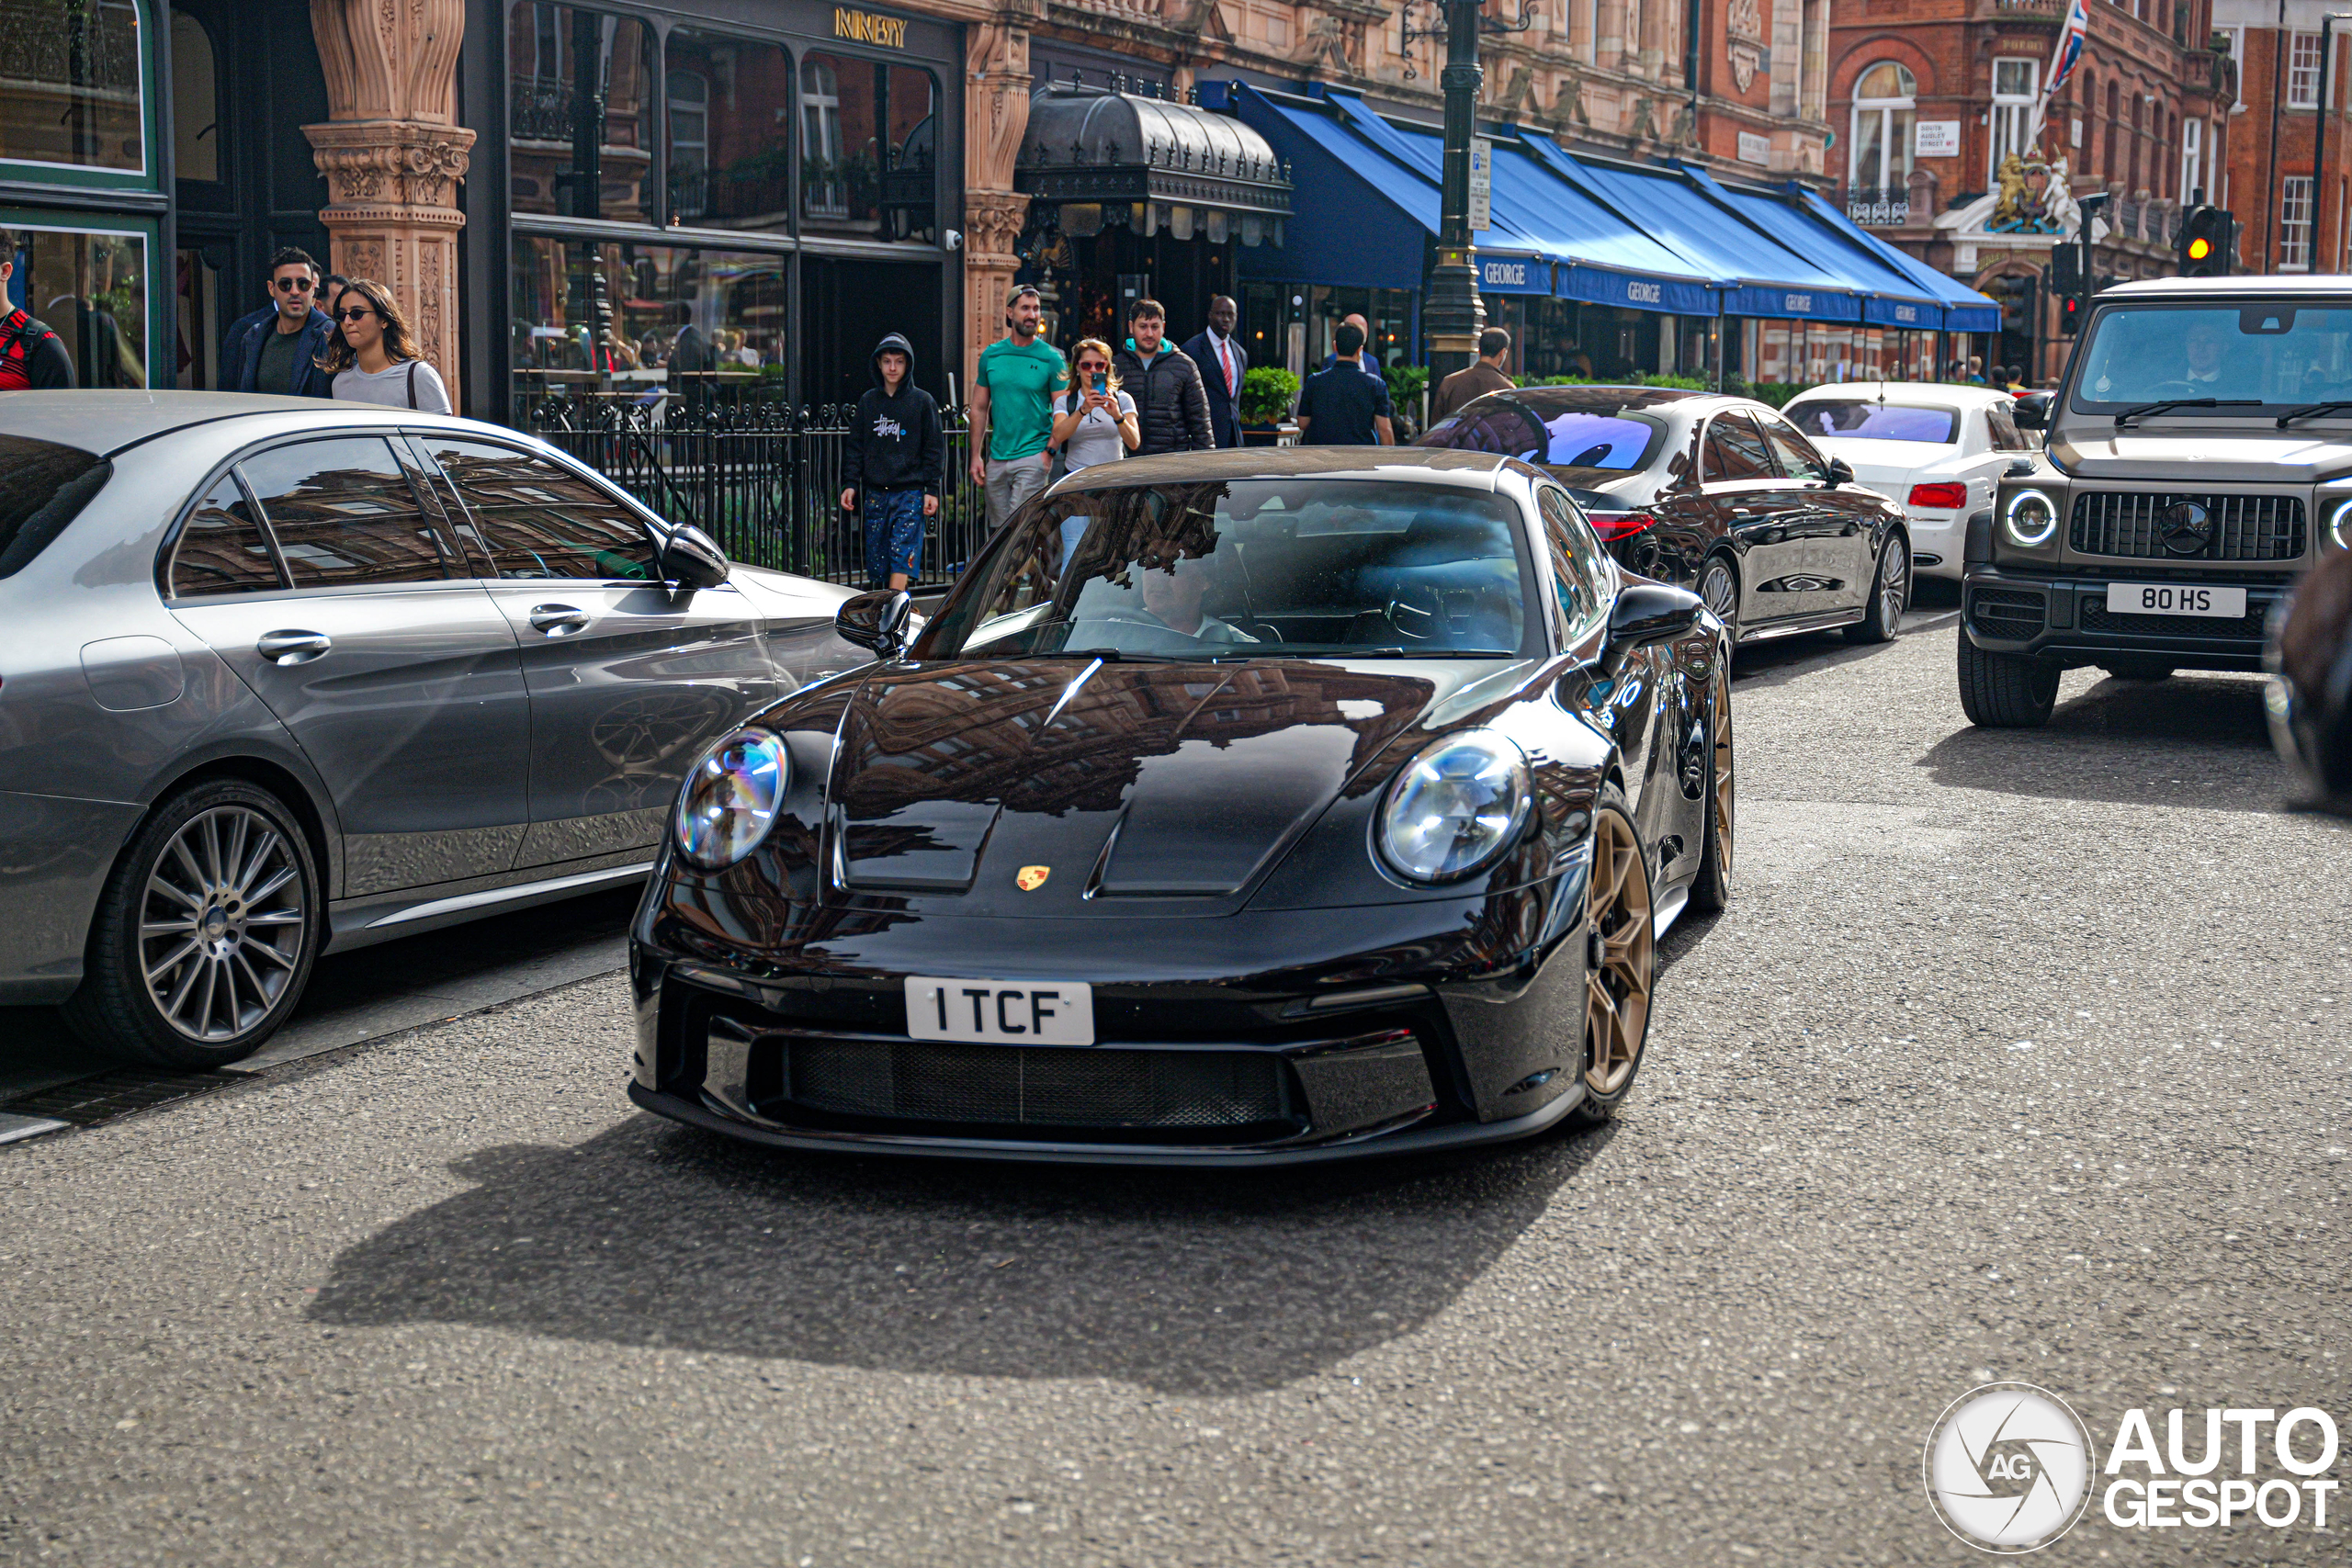
<instances>
[{"instance_id":1,"label":"slim carved stone column between dark shopfront and rounded black canopy","mask_svg":"<svg viewBox=\"0 0 2352 1568\"><path fill-rule=\"evenodd\" d=\"M1004 289L1021 270L1014 244L1028 197L1014 190L1014 162L1028 134L1028 24L1000 12L974 24L964 52L964 374L971 397L981 350L1004 336Z\"/></svg>"}]
</instances>

